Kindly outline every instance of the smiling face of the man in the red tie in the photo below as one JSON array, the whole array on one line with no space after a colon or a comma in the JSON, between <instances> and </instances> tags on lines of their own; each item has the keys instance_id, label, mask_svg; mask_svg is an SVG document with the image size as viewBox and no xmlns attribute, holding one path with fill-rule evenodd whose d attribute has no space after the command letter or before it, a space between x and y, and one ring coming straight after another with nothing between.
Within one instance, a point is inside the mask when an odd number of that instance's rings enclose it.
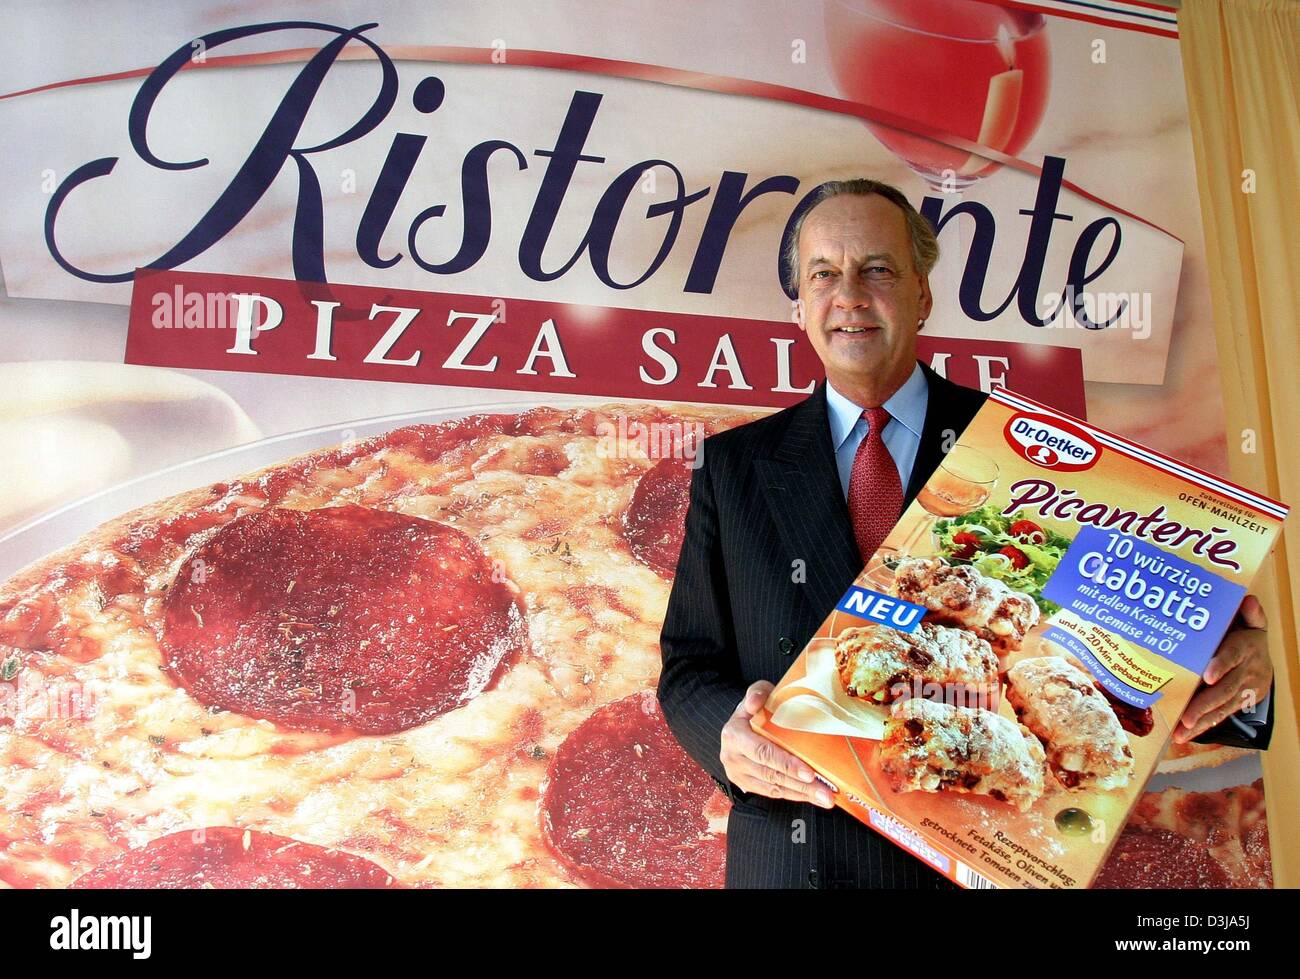
<instances>
[{"instance_id":1,"label":"smiling face of the man in the red tie","mask_svg":"<svg viewBox=\"0 0 1300 979\"><path fill-rule=\"evenodd\" d=\"M902 211L876 194L812 208L800 231L800 329L837 389L901 385L931 308Z\"/></svg>"}]
</instances>

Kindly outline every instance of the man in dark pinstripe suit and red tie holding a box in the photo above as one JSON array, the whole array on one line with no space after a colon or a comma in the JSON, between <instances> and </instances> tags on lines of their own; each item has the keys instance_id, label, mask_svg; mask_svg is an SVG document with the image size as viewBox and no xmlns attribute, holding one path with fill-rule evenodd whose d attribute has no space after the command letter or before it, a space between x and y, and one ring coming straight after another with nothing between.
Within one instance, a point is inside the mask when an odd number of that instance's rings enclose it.
<instances>
[{"instance_id":1,"label":"man in dark pinstripe suit and red tie holding a box","mask_svg":"<svg viewBox=\"0 0 1300 979\"><path fill-rule=\"evenodd\" d=\"M952 888L749 727L985 399L916 361L939 247L901 191L823 185L790 248L800 328L827 381L705 443L660 636L659 701L732 800L728 887ZM1256 702L1273 671L1253 598L1242 618L1175 740L1268 744L1271 711ZM1230 716L1242 703L1253 710Z\"/></svg>"}]
</instances>

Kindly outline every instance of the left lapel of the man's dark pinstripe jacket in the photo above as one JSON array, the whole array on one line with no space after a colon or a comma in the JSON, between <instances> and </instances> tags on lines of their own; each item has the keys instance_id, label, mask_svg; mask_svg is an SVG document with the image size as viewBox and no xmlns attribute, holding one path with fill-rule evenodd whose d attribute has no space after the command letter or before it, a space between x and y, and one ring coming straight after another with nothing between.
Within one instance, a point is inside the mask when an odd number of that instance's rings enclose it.
<instances>
[{"instance_id":1,"label":"left lapel of the man's dark pinstripe jacket","mask_svg":"<svg viewBox=\"0 0 1300 979\"><path fill-rule=\"evenodd\" d=\"M814 610L828 612L862 571L827 421L826 381L793 412L771 459L754 468L793 575L802 562Z\"/></svg>"}]
</instances>

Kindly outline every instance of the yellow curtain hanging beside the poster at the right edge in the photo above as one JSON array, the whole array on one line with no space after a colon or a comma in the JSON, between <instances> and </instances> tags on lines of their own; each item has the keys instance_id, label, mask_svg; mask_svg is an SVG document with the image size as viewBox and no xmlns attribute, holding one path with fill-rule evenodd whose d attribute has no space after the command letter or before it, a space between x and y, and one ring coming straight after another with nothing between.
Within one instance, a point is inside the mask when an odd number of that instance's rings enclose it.
<instances>
[{"instance_id":1,"label":"yellow curtain hanging beside the poster at the right edge","mask_svg":"<svg viewBox=\"0 0 1300 979\"><path fill-rule=\"evenodd\" d=\"M1297 508L1254 592L1277 671L1264 753L1277 887L1300 885L1300 4L1183 0L1178 14L1231 478Z\"/></svg>"}]
</instances>

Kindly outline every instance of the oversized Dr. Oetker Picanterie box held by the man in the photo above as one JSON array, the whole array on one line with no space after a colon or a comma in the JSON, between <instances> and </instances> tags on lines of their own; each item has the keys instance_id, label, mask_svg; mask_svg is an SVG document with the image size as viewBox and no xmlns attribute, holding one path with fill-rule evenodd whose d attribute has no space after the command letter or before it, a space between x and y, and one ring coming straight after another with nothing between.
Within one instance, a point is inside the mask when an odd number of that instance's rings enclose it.
<instances>
[{"instance_id":1,"label":"oversized Dr. Oetker Picanterie box held by the man","mask_svg":"<svg viewBox=\"0 0 1300 979\"><path fill-rule=\"evenodd\" d=\"M1088 887L1286 514L997 390L753 725L963 887Z\"/></svg>"}]
</instances>

